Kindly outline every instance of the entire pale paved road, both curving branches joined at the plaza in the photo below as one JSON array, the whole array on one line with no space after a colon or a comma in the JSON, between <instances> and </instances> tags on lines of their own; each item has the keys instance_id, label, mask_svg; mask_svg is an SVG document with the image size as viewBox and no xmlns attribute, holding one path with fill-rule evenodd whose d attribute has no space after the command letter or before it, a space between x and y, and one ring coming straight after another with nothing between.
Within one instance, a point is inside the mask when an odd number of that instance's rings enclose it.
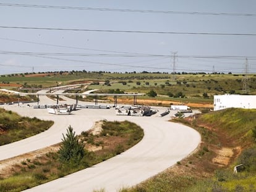
<instances>
[{"instance_id":1,"label":"entire pale paved road, both curving branches joined at the plaza","mask_svg":"<svg viewBox=\"0 0 256 192\"><path fill-rule=\"evenodd\" d=\"M40 102L49 102L49 99L41 96ZM123 186L136 185L176 164L200 143L200 135L197 131L181 124L168 122L169 115L166 117L116 116L114 109L82 109L74 111L73 115L53 115L48 114L46 109L15 106L6 106L6 108L30 117L51 119L55 123L49 130L36 136L1 146L0 159L58 143L61 141L61 133L66 133L69 125L76 133L80 133L82 130L90 129L96 120L130 120L140 125L145 132L140 143L121 155L28 191L93 191L101 188L106 191L118 191ZM165 110L159 109L162 112Z\"/></svg>"}]
</instances>

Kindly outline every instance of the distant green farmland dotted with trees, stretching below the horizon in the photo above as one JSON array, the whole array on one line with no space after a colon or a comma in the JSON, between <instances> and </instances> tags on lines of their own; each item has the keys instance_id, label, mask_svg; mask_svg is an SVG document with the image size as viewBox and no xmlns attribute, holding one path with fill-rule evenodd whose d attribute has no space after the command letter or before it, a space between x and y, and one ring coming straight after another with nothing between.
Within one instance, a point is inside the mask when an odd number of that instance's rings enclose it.
<instances>
[{"instance_id":1,"label":"distant green farmland dotted with trees, stretching below the horizon","mask_svg":"<svg viewBox=\"0 0 256 192\"><path fill-rule=\"evenodd\" d=\"M166 73L109 73L109 72L49 72L1 75L1 88L17 90L23 88L48 88L50 86L88 83L87 90L99 93L124 91L144 93L141 99L154 91L150 99L187 103L213 103L215 94L242 94L242 74L176 74ZM249 94L256 94L256 75L251 74ZM173 79L175 78L175 80Z\"/></svg>"}]
</instances>

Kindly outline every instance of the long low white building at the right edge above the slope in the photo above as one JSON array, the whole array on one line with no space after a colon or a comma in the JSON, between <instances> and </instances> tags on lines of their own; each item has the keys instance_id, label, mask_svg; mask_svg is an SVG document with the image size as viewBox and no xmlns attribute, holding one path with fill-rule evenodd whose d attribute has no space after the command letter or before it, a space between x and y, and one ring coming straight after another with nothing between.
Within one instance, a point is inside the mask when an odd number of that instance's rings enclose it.
<instances>
[{"instance_id":1,"label":"long low white building at the right edge above the slope","mask_svg":"<svg viewBox=\"0 0 256 192\"><path fill-rule=\"evenodd\" d=\"M214 111L226 108L256 109L256 95L223 94L214 96Z\"/></svg>"}]
</instances>

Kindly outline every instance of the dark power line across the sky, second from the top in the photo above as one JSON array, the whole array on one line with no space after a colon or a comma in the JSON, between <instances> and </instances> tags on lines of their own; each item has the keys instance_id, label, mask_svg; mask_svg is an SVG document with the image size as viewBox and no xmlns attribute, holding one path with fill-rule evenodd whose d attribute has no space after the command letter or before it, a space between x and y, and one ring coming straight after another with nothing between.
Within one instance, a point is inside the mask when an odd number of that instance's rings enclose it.
<instances>
[{"instance_id":1,"label":"dark power line across the sky, second from the top","mask_svg":"<svg viewBox=\"0 0 256 192\"><path fill-rule=\"evenodd\" d=\"M17 26L0 26L0 28L12 28L12 29L22 29L22 30L58 30L58 31L88 31L88 32L110 32L110 33L149 33L149 34L174 34L174 35L256 36L256 33L200 33L200 32L174 32L174 31L95 30L95 29L82 29L82 28L17 27Z\"/></svg>"}]
</instances>

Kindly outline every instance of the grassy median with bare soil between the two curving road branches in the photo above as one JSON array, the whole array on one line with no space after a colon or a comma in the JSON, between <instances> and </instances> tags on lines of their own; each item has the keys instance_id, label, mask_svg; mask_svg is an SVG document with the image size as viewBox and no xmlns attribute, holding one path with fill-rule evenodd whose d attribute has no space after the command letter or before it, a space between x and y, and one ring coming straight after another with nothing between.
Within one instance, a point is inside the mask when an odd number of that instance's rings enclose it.
<instances>
[{"instance_id":1,"label":"grassy median with bare soil between the two curving road branches","mask_svg":"<svg viewBox=\"0 0 256 192\"><path fill-rule=\"evenodd\" d=\"M143 138L143 130L131 122L103 122L102 131L93 135L92 131L83 132L79 140L85 144L85 156L79 165L63 164L58 152L49 152L36 159L27 159L12 167L12 176L0 180L0 191L21 191L64 177L78 170L105 161L130 147ZM98 148L88 151L88 148Z\"/></svg>"}]
</instances>

